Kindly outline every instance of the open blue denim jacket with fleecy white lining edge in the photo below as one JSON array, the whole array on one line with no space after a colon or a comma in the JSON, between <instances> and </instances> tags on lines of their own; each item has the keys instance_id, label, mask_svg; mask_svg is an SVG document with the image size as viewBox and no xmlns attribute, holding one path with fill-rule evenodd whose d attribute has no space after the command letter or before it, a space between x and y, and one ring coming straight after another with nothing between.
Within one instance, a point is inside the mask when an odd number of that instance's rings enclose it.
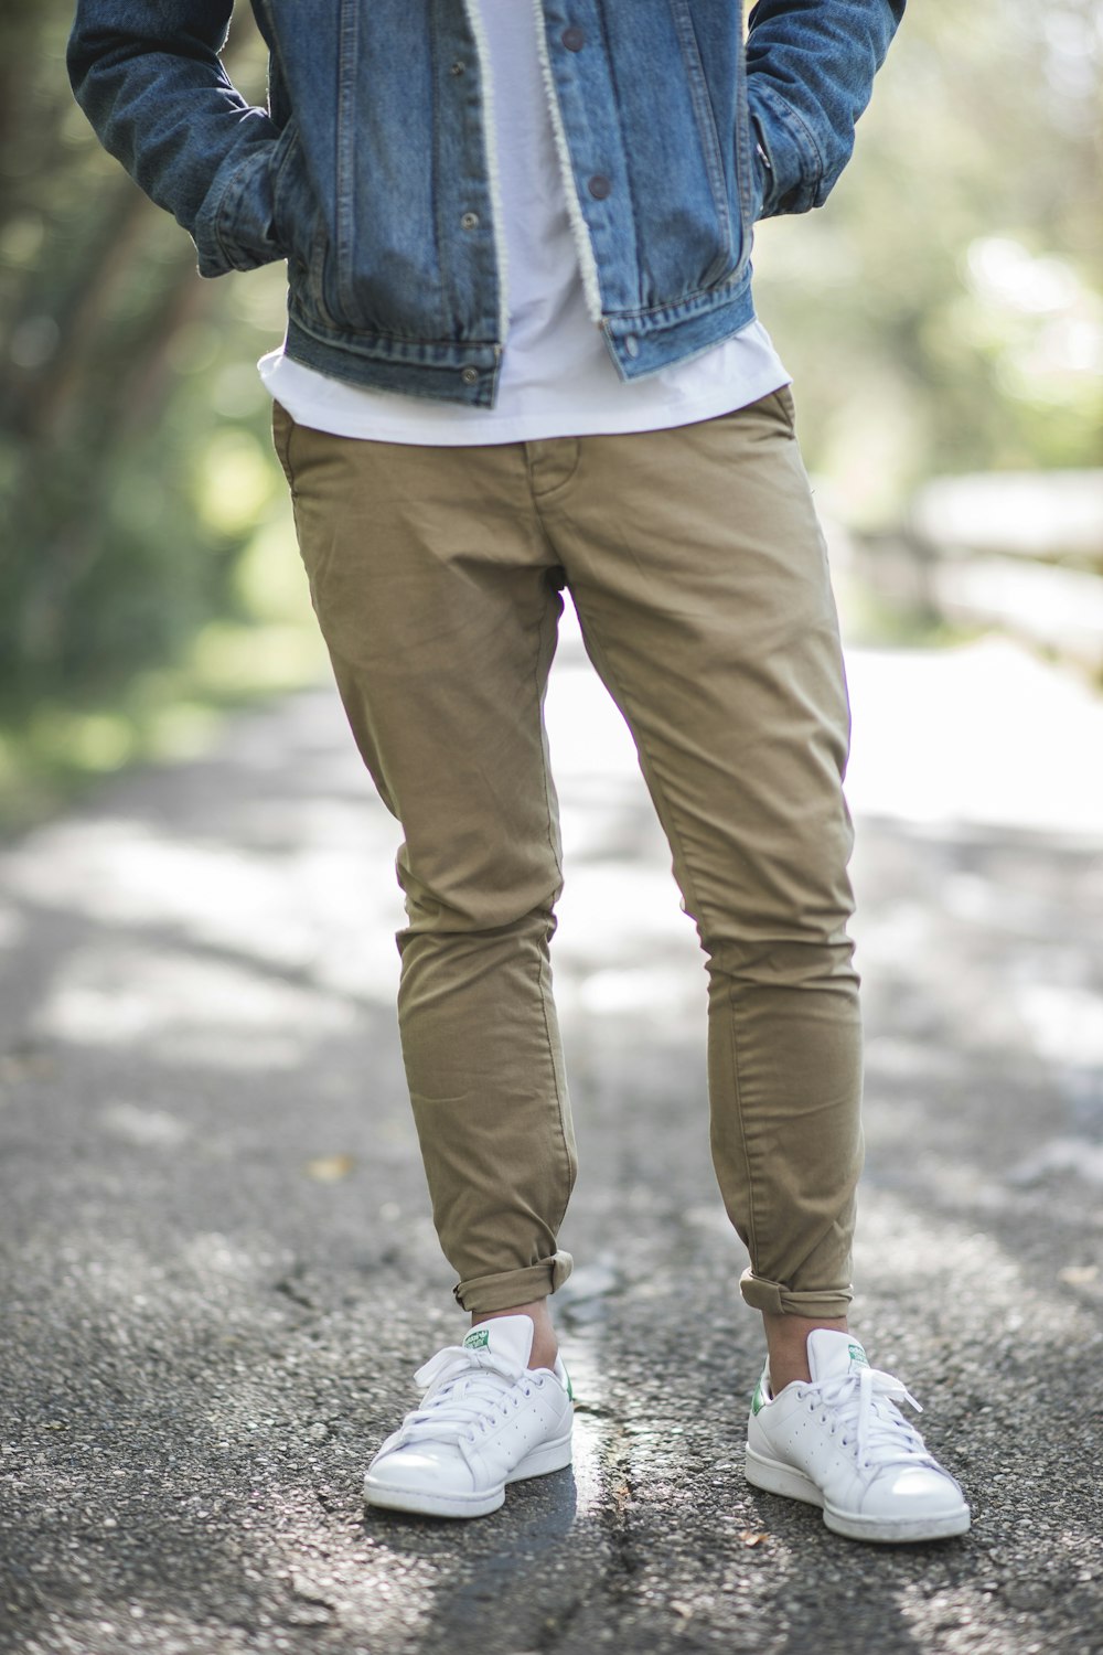
<instances>
[{"instance_id":1,"label":"open blue denim jacket with fleecy white lining edge","mask_svg":"<svg viewBox=\"0 0 1103 1655\"><path fill-rule=\"evenodd\" d=\"M756 218L819 207L905 0L518 0L587 303L623 379L752 319ZM508 293L476 0L251 0L268 109L230 83L233 0L78 0L73 89L205 276L288 260L288 351L489 407Z\"/></svg>"}]
</instances>

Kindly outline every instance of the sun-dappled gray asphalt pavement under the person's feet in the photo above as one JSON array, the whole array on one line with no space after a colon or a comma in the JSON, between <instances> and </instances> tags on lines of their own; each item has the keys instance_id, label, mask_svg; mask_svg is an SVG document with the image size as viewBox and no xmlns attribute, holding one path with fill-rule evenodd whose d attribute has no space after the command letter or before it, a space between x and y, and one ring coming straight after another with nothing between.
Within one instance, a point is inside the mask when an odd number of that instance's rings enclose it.
<instances>
[{"instance_id":1,"label":"sun-dappled gray asphalt pavement under the person's feet","mask_svg":"<svg viewBox=\"0 0 1103 1655\"><path fill-rule=\"evenodd\" d=\"M1100 707L1005 740L962 660L1007 712L1002 654L852 664L855 1326L972 1533L862 1547L742 1481L761 1352L708 1162L704 975L569 636L574 1471L470 1524L362 1511L463 1319L394 1026L397 829L329 690L301 695L0 856L5 1652L1103 1650ZM1037 670L1012 679L1045 717L1070 692Z\"/></svg>"}]
</instances>

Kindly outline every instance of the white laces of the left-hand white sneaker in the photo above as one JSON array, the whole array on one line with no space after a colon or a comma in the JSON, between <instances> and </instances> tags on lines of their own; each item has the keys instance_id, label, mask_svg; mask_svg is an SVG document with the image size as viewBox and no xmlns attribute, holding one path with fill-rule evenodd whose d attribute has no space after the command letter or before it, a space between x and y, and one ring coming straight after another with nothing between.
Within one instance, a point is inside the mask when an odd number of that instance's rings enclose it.
<instances>
[{"instance_id":1,"label":"white laces of the left-hand white sneaker","mask_svg":"<svg viewBox=\"0 0 1103 1655\"><path fill-rule=\"evenodd\" d=\"M493 1350L470 1350L446 1346L413 1375L425 1385L420 1407L407 1413L395 1432L392 1448L407 1443L455 1443L466 1456L480 1435L494 1430L511 1410L544 1385L539 1374L529 1374Z\"/></svg>"}]
</instances>

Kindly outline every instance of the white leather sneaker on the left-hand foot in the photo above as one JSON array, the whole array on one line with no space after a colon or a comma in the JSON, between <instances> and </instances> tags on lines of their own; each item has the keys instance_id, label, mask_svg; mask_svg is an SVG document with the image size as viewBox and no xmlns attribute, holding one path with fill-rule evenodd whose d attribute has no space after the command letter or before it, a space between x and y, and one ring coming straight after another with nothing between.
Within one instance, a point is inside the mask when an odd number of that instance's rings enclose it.
<instances>
[{"instance_id":1,"label":"white leather sneaker on the left-hand foot","mask_svg":"<svg viewBox=\"0 0 1103 1655\"><path fill-rule=\"evenodd\" d=\"M422 1405L367 1468L369 1506L481 1518L506 1483L571 1465L571 1380L559 1359L528 1369L532 1336L531 1316L496 1316L417 1370Z\"/></svg>"}]
</instances>

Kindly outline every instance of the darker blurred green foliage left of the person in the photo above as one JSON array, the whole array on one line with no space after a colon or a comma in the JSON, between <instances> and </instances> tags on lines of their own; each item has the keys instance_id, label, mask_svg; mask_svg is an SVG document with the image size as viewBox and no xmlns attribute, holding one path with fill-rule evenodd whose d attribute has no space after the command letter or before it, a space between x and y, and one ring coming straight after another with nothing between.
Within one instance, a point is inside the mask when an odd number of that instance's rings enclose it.
<instances>
[{"instance_id":1,"label":"darker blurred green foliage left of the person","mask_svg":"<svg viewBox=\"0 0 1103 1655\"><path fill-rule=\"evenodd\" d=\"M96 142L68 3L0 18L0 824L321 672L255 369L283 268L202 281ZM248 8L228 48L265 96Z\"/></svg>"}]
</instances>

